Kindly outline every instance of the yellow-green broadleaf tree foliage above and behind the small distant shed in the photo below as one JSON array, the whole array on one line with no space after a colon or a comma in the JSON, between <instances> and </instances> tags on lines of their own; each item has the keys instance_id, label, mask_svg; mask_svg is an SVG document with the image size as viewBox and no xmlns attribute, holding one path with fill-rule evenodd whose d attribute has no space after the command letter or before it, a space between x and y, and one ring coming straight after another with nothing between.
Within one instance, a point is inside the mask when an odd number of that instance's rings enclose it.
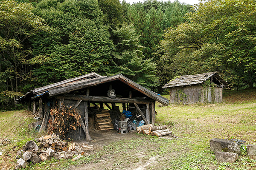
<instances>
[{"instance_id":1,"label":"yellow-green broadleaf tree foliage above and behind the small distant shed","mask_svg":"<svg viewBox=\"0 0 256 170\"><path fill-rule=\"evenodd\" d=\"M177 75L218 71L237 89L244 84L253 87L256 79L255 15L254 0L200 3L194 13L186 15L189 22L165 32L160 63L165 67L162 74L166 80Z\"/></svg>"}]
</instances>

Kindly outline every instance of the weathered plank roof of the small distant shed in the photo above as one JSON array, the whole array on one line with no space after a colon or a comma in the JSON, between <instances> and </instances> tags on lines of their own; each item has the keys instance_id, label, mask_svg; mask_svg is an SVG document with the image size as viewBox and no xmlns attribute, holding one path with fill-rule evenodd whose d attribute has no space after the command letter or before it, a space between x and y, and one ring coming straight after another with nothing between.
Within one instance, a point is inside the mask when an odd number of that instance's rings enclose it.
<instances>
[{"instance_id":1,"label":"weathered plank roof of the small distant shed","mask_svg":"<svg viewBox=\"0 0 256 170\"><path fill-rule=\"evenodd\" d=\"M203 73L203 74L194 74L194 75L186 75L180 76L176 79L168 82L163 88L172 88L177 86L186 86L186 85L197 85L205 82L210 77L215 78L215 82L221 86L228 86L228 83L220 77L220 75L215 72Z\"/></svg>"}]
</instances>

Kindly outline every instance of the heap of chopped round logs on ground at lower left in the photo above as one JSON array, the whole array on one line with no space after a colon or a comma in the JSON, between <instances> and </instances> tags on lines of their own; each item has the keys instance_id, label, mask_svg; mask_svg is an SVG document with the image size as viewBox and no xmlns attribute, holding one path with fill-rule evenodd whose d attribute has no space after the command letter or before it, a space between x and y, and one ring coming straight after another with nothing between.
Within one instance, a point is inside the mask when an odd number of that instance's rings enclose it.
<instances>
[{"instance_id":1,"label":"heap of chopped round logs on ground at lower left","mask_svg":"<svg viewBox=\"0 0 256 170\"><path fill-rule=\"evenodd\" d=\"M81 158L85 152L93 151L92 145L76 144L62 141L59 136L52 135L42 136L37 139L38 146L34 141L26 142L16 154L18 168L25 168L29 164L38 164L41 161L55 159L72 159L73 161ZM74 157L76 156L76 157Z\"/></svg>"}]
</instances>

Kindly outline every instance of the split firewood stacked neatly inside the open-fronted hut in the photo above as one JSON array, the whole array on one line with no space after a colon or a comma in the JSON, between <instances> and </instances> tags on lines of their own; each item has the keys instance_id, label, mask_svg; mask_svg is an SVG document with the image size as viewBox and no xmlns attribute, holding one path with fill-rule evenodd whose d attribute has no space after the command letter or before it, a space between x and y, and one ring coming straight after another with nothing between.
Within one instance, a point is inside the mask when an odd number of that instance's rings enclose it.
<instances>
[{"instance_id":1,"label":"split firewood stacked neatly inside the open-fronted hut","mask_svg":"<svg viewBox=\"0 0 256 170\"><path fill-rule=\"evenodd\" d=\"M111 122L109 110L101 110L95 114L94 125L98 130L111 130L114 129L113 123Z\"/></svg>"}]
</instances>

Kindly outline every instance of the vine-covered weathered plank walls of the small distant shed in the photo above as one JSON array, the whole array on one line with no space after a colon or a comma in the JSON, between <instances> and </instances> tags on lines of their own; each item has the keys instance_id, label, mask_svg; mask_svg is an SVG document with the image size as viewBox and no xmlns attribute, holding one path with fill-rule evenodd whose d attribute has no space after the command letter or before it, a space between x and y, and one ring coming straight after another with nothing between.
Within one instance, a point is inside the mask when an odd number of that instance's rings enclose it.
<instances>
[{"instance_id":1,"label":"vine-covered weathered plank walls of the small distant shed","mask_svg":"<svg viewBox=\"0 0 256 170\"><path fill-rule=\"evenodd\" d=\"M222 102L222 88L192 85L170 88L170 103Z\"/></svg>"}]
</instances>

